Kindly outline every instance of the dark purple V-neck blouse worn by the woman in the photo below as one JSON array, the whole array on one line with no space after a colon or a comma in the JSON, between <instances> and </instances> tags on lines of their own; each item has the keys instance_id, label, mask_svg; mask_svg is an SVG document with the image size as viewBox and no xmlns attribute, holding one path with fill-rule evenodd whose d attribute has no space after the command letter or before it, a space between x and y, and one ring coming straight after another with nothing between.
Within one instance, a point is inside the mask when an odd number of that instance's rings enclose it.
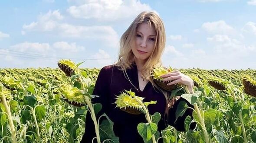
<instances>
[{"instance_id":1,"label":"dark purple V-neck blouse worn by the woman","mask_svg":"<svg viewBox=\"0 0 256 143\"><path fill-rule=\"evenodd\" d=\"M185 114L175 121L175 111L180 102L184 99L179 99L174 107L169 110L168 118L164 118L164 111L166 107L166 101L164 95L153 88L150 82L147 83L144 90L139 89L138 83L138 71L136 64L132 65L131 69L126 70L131 83L125 78L123 71L118 70L114 65L105 66L98 74L98 79L95 83L95 89L93 95L98 95L98 98L92 99L93 103L101 103L102 110L97 114L97 118L106 113L108 117L114 122L114 132L119 137L120 143L143 143L142 137L137 131L137 125L141 122L147 123L144 114L129 114L125 111L121 111L119 108L115 108L116 95L119 95L124 90L131 90L135 92L137 96L144 97L143 102L157 101L156 104L148 105L149 114L153 115L155 112L161 114L161 120L158 123L158 130L164 130L167 125L175 127L179 131L184 131L184 120L190 115L192 117L192 109L187 109ZM188 102L187 102L188 103ZM189 105L193 107L192 105ZM195 125L194 125L195 126ZM193 127L194 128L194 127ZM92 138L96 137L95 128L92 122L92 118L89 112L86 115L85 121L85 134L82 137L81 143L92 143ZM96 141L96 140L95 140Z\"/></svg>"}]
</instances>

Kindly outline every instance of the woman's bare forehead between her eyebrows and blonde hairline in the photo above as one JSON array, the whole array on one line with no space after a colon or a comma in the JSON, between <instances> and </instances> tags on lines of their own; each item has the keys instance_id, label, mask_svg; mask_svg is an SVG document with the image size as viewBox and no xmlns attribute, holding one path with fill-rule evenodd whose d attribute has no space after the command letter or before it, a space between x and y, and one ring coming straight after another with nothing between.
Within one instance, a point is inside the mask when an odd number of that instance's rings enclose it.
<instances>
[{"instance_id":1,"label":"woman's bare forehead between her eyebrows and blonde hairline","mask_svg":"<svg viewBox=\"0 0 256 143\"><path fill-rule=\"evenodd\" d=\"M143 35L156 35L154 25L151 26L148 23L141 23L136 29L137 32L142 33Z\"/></svg>"}]
</instances>

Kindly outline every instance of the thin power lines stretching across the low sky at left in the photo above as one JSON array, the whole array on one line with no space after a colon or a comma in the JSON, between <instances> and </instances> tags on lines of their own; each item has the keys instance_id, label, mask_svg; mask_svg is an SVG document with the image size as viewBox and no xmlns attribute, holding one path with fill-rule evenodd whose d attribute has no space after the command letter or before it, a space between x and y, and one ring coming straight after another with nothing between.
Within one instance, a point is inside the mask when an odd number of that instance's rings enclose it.
<instances>
[{"instance_id":1,"label":"thin power lines stretching across the low sky at left","mask_svg":"<svg viewBox=\"0 0 256 143\"><path fill-rule=\"evenodd\" d=\"M3 48L0 48L3 49ZM8 51L6 54L0 53L0 55L10 55L13 57L20 57L20 58L27 58L27 59L44 59L44 60L59 60L59 59L72 59L72 60L107 60L111 58L70 58L70 57L53 57L53 56L46 56L42 54L36 54L36 53L26 53L26 52L20 52L20 51L14 51L9 49L3 49ZM10 52L10 53L9 53ZM13 55L14 54L14 55Z\"/></svg>"}]
</instances>

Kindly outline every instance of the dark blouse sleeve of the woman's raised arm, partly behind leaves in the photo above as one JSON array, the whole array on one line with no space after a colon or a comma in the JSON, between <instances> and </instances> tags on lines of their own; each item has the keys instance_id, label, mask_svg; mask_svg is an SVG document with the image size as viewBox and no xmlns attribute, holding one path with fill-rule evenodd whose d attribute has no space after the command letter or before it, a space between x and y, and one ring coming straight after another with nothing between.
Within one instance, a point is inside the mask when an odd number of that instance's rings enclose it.
<instances>
[{"instance_id":1,"label":"dark blouse sleeve of the woman's raised arm, partly behind leaves","mask_svg":"<svg viewBox=\"0 0 256 143\"><path fill-rule=\"evenodd\" d=\"M177 106L179 105L179 103L181 101L185 101L189 107L194 108L194 106L191 105L189 102L187 102L187 100L180 98L179 100L177 100L177 102L175 102L173 108L169 109L168 124L175 127L175 129L178 131L186 131L185 127L184 127L184 121L185 121L186 117L190 116L193 119L193 116L192 116L193 110L191 108L188 108L185 111L185 113L183 114L183 116L178 117L177 121L174 123L174 121L176 120L175 112L177 110ZM195 127L196 127L196 123L190 124L191 130L193 130Z\"/></svg>"}]
</instances>

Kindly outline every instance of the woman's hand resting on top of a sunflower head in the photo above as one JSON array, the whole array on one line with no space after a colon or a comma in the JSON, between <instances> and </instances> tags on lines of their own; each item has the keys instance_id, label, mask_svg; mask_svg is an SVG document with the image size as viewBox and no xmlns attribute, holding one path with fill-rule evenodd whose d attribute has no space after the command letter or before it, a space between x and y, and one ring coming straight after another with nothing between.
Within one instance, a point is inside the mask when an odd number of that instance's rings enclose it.
<instances>
[{"instance_id":1,"label":"woman's hand resting on top of a sunflower head","mask_svg":"<svg viewBox=\"0 0 256 143\"><path fill-rule=\"evenodd\" d=\"M160 77L163 78L164 82L167 82L167 86L170 86L170 85L173 85L176 83L180 83L180 84L187 86L190 93L193 92L193 86L194 86L193 80L189 76L184 75L183 73L181 73L178 70L174 70L170 73L161 75Z\"/></svg>"}]
</instances>

